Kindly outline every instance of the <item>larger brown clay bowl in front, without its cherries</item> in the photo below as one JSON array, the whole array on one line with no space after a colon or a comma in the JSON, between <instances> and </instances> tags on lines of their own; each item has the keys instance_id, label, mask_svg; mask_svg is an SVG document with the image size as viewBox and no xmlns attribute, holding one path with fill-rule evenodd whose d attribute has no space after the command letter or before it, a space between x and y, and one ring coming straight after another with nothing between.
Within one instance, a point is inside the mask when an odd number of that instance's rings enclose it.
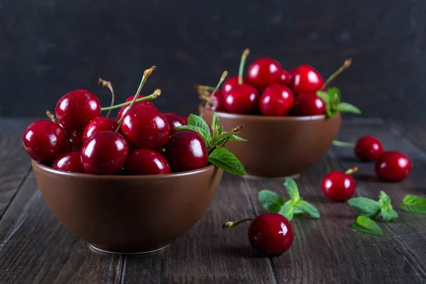
<instances>
[{"instance_id":1,"label":"larger brown clay bowl in front, without its cherries","mask_svg":"<svg viewBox=\"0 0 426 284\"><path fill-rule=\"evenodd\" d=\"M59 221L110 253L158 251L185 234L209 206L223 173L209 165L167 175L88 175L32 165Z\"/></svg>"}]
</instances>

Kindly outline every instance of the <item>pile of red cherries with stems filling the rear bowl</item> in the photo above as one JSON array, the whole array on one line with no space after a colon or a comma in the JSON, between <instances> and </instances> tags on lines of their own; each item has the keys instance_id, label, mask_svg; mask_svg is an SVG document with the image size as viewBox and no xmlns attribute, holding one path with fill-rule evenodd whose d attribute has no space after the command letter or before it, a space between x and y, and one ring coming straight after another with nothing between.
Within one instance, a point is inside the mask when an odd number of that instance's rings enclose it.
<instances>
[{"instance_id":1,"label":"pile of red cherries with stems filling the rear bowl","mask_svg":"<svg viewBox=\"0 0 426 284\"><path fill-rule=\"evenodd\" d=\"M212 111L233 114L261 114L263 116L315 116L326 114L326 102L317 96L317 91L326 87L346 65L324 81L320 73L310 65L300 65L285 70L272 58L259 58L249 66L244 77L244 63L249 49L241 56L239 75L230 77L222 90L198 85L200 99L210 101Z\"/></svg>"}]
</instances>

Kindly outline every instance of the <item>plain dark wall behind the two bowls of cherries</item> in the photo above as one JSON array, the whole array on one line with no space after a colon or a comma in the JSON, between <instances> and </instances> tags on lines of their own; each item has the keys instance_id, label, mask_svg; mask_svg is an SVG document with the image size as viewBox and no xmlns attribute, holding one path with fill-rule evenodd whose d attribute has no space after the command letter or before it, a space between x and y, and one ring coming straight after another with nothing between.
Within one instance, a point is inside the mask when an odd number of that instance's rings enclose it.
<instances>
[{"instance_id":1,"label":"plain dark wall behind the two bowls of cherries","mask_svg":"<svg viewBox=\"0 0 426 284\"><path fill-rule=\"evenodd\" d=\"M426 121L426 1L0 1L0 115L43 116L72 89L109 104L163 90L162 111L197 111L196 83L236 74L242 50L336 80L363 117ZM348 115L349 116L349 115Z\"/></svg>"}]
</instances>

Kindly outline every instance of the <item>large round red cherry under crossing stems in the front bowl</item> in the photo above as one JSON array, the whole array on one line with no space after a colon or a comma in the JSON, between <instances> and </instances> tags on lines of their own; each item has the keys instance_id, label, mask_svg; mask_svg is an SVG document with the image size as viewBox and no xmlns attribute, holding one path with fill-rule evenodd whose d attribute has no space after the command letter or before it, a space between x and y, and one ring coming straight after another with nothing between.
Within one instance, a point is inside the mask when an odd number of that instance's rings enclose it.
<instances>
[{"instance_id":1,"label":"large round red cherry under crossing stems in the front bowl","mask_svg":"<svg viewBox=\"0 0 426 284\"><path fill-rule=\"evenodd\" d=\"M132 146L155 150L167 142L170 127L158 109L141 104L124 114L121 132Z\"/></svg>"}]
</instances>

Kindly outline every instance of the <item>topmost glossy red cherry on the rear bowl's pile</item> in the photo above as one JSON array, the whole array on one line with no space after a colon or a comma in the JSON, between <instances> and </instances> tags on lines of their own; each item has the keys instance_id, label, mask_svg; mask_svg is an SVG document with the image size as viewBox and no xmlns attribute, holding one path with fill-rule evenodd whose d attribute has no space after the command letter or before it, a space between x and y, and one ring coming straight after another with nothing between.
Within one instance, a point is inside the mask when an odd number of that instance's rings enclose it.
<instances>
[{"instance_id":1,"label":"topmost glossy red cherry on the rear bowl's pile","mask_svg":"<svg viewBox=\"0 0 426 284\"><path fill-rule=\"evenodd\" d=\"M251 63L249 70L247 70L250 84L260 90L271 86L271 84L280 83L281 75L283 75L283 67L272 58L259 58Z\"/></svg>"}]
</instances>

